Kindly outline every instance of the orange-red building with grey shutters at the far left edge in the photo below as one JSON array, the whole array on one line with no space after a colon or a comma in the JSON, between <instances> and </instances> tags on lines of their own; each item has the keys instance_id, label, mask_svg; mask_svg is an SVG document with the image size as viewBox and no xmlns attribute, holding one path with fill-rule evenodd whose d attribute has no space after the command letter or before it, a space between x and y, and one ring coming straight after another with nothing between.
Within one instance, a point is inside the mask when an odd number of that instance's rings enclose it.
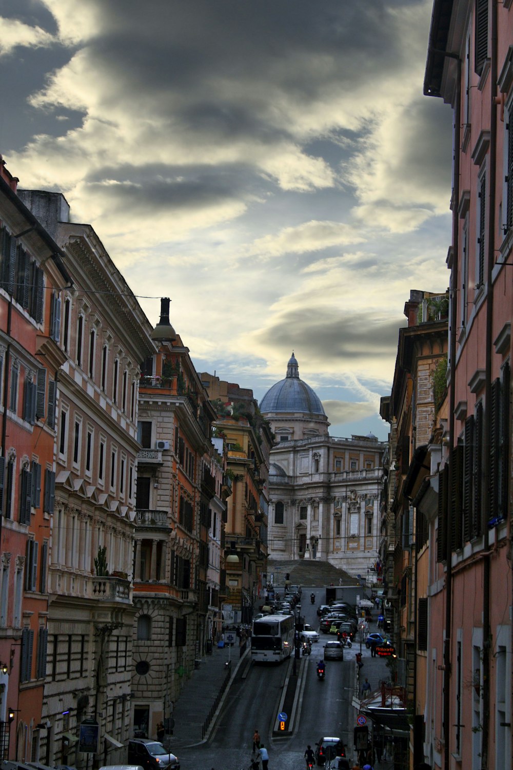
<instances>
[{"instance_id":1,"label":"orange-red building with grey shutters at the far left edge","mask_svg":"<svg viewBox=\"0 0 513 770\"><path fill-rule=\"evenodd\" d=\"M0 158L0 759L39 758L64 255Z\"/></svg>"}]
</instances>

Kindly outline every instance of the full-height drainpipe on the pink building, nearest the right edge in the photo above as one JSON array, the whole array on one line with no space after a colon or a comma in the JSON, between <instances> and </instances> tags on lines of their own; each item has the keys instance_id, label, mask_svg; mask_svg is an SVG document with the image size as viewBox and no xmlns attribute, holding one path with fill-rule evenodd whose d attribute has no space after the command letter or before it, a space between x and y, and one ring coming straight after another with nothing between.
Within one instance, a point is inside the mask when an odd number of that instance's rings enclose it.
<instances>
[{"instance_id":1,"label":"full-height drainpipe on the pink building, nearest the right edge","mask_svg":"<svg viewBox=\"0 0 513 770\"><path fill-rule=\"evenodd\" d=\"M491 364L493 345L493 286L492 273L495 264L495 183L497 179L497 4L491 5L491 50L490 50L490 172L488 184L488 266L486 278L486 360L485 360L485 420L484 420L484 489L486 490L485 504L481 505L483 532L483 718L481 735L481 768L488 768L488 753L490 747L490 558L488 533L488 500L490 492L490 450L491 450Z\"/></svg>"}]
</instances>

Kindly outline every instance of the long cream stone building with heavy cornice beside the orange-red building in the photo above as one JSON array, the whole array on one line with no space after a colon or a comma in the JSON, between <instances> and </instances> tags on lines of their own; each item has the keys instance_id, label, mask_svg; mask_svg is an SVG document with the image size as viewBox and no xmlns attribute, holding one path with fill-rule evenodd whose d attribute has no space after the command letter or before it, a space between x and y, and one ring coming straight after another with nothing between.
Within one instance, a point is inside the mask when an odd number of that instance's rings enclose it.
<instances>
[{"instance_id":1,"label":"long cream stone building with heavy cornice beside the orange-red building","mask_svg":"<svg viewBox=\"0 0 513 770\"><path fill-rule=\"evenodd\" d=\"M37 758L84 767L79 725L88 720L98 738L95 753L112 764L125 759L131 734L139 363L155 343L92 226L70 223L58 193L18 195L60 244L71 276L48 297L60 360Z\"/></svg>"}]
</instances>

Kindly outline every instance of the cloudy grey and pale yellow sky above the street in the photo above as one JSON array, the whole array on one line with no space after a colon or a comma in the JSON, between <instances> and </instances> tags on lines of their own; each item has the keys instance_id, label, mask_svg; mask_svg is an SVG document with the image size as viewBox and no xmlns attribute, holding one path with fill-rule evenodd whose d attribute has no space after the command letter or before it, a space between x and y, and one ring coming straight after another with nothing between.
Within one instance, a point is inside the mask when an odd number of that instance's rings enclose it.
<instances>
[{"instance_id":1,"label":"cloudy grey and pale yellow sky above the street","mask_svg":"<svg viewBox=\"0 0 513 770\"><path fill-rule=\"evenodd\" d=\"M0 152L63 192L198 371L291 351L334 436L385 438L411 289L443 292L451 111L432 0L2 0ZM146 299L150 297L152 299Z\"/></svg>"}]
</instances>

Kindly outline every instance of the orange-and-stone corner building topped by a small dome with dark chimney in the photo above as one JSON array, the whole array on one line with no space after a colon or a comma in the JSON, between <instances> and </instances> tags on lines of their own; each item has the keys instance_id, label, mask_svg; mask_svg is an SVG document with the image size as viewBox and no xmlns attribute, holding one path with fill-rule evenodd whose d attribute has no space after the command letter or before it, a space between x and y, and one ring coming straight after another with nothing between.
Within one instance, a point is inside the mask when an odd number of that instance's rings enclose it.
<instances>
[{"instance_id":1,"label":"orange-and-stone corner building topped by a small dome with dark chimney","mask_svg":"<svg viewBox=\"0 0 513 770\"><path fill-rule=\"evenodd\" d=\"M139 388L135 504L132 707L135 730L148 736L158 721L171 729L175 701L212 640L209 511L224 510L210 437L215 410L169 322L168 299L161 311L152 331L158 350Z\"/></svg>"}]
</instances>

